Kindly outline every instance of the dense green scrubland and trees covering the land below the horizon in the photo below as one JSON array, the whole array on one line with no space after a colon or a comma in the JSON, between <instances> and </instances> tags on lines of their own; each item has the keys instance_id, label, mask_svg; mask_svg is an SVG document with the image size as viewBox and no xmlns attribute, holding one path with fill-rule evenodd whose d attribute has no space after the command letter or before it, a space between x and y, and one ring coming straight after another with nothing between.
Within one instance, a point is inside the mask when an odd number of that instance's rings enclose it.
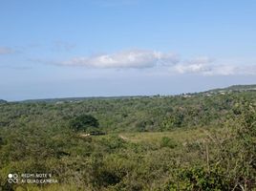
<instances>
[{"instance_id":1,"label":"dense green scrubland and trees covering the land below the horizon","mask_svg":"<svg viewBox=\"0 0 256 191\"><path fill-rule=\"evenodd\" d=\"M255 178L252 90L0 104L0 190L253 190Z\"/></svg>"}]
</instances>

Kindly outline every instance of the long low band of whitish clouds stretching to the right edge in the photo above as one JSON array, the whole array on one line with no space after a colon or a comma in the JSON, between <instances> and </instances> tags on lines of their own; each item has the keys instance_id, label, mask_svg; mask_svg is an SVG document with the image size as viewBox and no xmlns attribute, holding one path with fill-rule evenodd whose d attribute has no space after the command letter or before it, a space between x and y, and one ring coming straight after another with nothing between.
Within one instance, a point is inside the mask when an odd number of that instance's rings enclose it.
<instances>
[{"instance_id":1,"label":"long low band of whitish clouds stretching to the right edge","mask_svg":"<svg viewBox=\"0 0 256 191\"><path fill-rule=\"evenodd\" d=\"M2 50L2 53L9 53ZM163 53L147 50L130 50L117 53L103 53L91 56L78 56L54 61L30 59L41 64L84 67L88 69L151 69L147 72L158 74L200 74L200 75L256 75L256 60L218 60L209 56L181 59L176 53Z\"/></svg>"}]
</instances>

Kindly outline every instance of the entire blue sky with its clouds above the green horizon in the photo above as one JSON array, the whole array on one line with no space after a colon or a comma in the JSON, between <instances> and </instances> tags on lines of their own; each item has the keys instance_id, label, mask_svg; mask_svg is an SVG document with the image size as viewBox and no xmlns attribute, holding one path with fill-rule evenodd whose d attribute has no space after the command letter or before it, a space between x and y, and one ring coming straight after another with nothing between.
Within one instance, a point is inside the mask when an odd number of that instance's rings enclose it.
<instances>
[{"instance_id":1,"label":"entire blue sky with its clouds above the green horizon","mask_svg":"<svg viewBox=\"0 0 256 191\"><path fill-rule=\"evenodd\" d=\"M0 0L0 99L256 83L255 0Z\"/></svg>"}]
</instances>

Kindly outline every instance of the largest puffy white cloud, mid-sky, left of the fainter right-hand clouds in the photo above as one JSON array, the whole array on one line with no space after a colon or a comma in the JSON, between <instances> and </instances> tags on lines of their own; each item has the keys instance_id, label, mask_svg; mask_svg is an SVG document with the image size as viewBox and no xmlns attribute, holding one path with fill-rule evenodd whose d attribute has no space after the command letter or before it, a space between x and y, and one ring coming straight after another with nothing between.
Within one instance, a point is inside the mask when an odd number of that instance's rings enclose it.
<instances>
[{"instance_id":1,"label":"largest puffy white cloud, mid-sky, left of the fainter right-hand clouds","mask_svg":"<svg viewBox=\"0 0 256 191\"><path fill-rule=\"evenodd\" d=\"M112 54L100 54L89 57L75 57L61 62L66 66L84 66L88 68L152 68L170 66L178 62L174 53L132 50Z\"/></svg>"}]
</instances>

